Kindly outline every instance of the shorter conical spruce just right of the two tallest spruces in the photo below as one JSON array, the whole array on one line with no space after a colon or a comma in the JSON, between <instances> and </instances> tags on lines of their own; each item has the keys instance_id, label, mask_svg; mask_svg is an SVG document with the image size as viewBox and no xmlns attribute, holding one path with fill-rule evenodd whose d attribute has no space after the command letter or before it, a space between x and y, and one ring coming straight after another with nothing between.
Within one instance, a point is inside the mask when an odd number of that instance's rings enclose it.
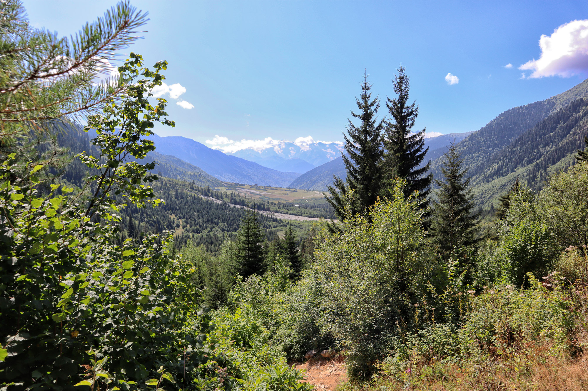
<instances>
[{"instance_id":1,"label":"shorter conical spruce just right of the two tallest spruces","mask_svg":"<svg viewBox=\"0 0 588 391\"><path fill-rule=\"evenodd\" d=\"M441 167L445 181L435 180L440 189L435 192L438 201L433 201L431 219L431 240L444 256L476 242L479 221L473 213L475 205L470 178L466 178L467 168L462 166L463 159L452 141Z\"/></svg>"}]
</instances>

